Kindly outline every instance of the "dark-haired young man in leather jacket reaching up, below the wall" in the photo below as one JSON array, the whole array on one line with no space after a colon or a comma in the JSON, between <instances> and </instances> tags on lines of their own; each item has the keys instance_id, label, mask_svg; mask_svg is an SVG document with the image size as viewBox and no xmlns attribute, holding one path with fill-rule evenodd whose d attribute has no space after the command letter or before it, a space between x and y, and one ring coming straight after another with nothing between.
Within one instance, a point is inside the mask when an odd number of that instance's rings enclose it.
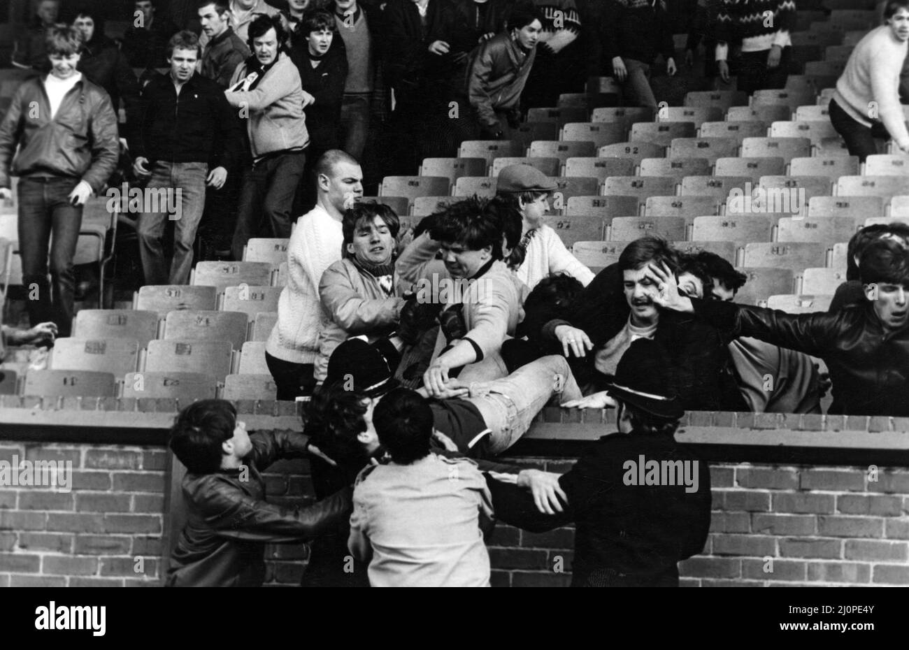
<instances>
[{"instance_id":1,"label":"dark-haired young man in leather jacket reaching up, below the wall","mask_svg":"<svg viewBox=\"0 0 909 650\"><path fill-rule=\"evenodd\" d=\"M171 429L170 448L186 466L186 525L167 586L261 586L265 544L305 542L343 522L351 489L315 505L269 504L261 472L282 458L318 455L304 434L246 433L234 405L207 399L187 406Z\"/></svg>"}]
</instances>

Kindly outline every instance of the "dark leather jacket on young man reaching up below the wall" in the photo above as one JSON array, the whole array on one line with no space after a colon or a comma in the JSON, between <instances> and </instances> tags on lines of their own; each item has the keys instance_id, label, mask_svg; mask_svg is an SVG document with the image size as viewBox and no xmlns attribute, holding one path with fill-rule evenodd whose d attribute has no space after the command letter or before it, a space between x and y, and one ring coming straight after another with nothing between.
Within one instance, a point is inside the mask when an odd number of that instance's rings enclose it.
<instances>
[{"instance_id":1,"label":"dark leather jacket on young man reaching up below the wall","mask_svg":"<svg viewBox=\"0 0 909 650\"><path fill-rule=\"evenodd\" d=\"M246 470L185 475L186 525L171 556L167 586L261 586L266 543L303 542L350 516L349 485L306 507L266 503L260 469L279 458L306 455L309 438L288 430L259 431L250 441Z\"/></svg>"}]
</instances>

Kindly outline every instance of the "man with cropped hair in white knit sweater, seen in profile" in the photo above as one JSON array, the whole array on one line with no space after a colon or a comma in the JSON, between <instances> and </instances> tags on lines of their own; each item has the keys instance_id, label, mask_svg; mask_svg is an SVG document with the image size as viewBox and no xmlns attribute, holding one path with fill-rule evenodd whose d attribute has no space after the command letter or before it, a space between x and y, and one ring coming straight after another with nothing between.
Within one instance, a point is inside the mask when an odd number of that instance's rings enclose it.
<instances>
[{"instance_id":1,"label":"man with cropped hair in white knit sweater, seen in profile","mask_svg":"<svg viewBox=\"0 0 909 650\"><path fill-rule=\"evenodd\" d=\"M265 344L265 362L275 378L277 398L311 395L319 333L327 319L319 302L319 281L341 259L341 220L363 196L363 171L353 157L326 151L315 165L318 198L301 216L287 246L287 285L278 299L278 321Z\"/></svg>"}]
</instances>

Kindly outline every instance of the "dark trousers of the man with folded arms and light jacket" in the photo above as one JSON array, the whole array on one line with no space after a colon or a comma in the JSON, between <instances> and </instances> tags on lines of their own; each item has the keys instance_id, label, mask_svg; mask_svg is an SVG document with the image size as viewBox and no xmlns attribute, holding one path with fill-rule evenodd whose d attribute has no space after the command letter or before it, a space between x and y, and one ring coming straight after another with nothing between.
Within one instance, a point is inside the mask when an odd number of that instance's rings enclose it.
<instances>
[{"instance_id":1,"label":"dark trousers of the man with folded arms and light jacket","mask_svg":"<svg viewBox=\"0 0 909 650\"><path fill-rule=\"evenodd\" d=\"M243 247L252 237L289 237L297 186L303 181L306 155L300 152L275 155L245 169L236 215L234 258L243 259ZM262 232L263 216L270 224Z\"/></svg>"}]
</instances>

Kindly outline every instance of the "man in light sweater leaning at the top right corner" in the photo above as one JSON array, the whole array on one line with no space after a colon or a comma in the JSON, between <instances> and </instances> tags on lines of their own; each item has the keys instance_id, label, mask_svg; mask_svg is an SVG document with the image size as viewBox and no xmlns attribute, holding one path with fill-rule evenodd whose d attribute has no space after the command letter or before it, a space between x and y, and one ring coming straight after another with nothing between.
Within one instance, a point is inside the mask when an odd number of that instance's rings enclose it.
<instances>
[{"instance_id":1,"label":"man in light sweater leaning at the top right corner","mask_svg":"<svg viewBox=\"0 0 909 650\"><path fill-rule=\"evenodd\" d=\"M857 155L863 163L877 153L875 125L883 124L896 145L909 153L909 131L899 96L909 41L909 0L890 0L884 6L884 19L885 25L855 45L830 100L831 123L843 136L849 155Z\"/></svg>"}]
</instances>

